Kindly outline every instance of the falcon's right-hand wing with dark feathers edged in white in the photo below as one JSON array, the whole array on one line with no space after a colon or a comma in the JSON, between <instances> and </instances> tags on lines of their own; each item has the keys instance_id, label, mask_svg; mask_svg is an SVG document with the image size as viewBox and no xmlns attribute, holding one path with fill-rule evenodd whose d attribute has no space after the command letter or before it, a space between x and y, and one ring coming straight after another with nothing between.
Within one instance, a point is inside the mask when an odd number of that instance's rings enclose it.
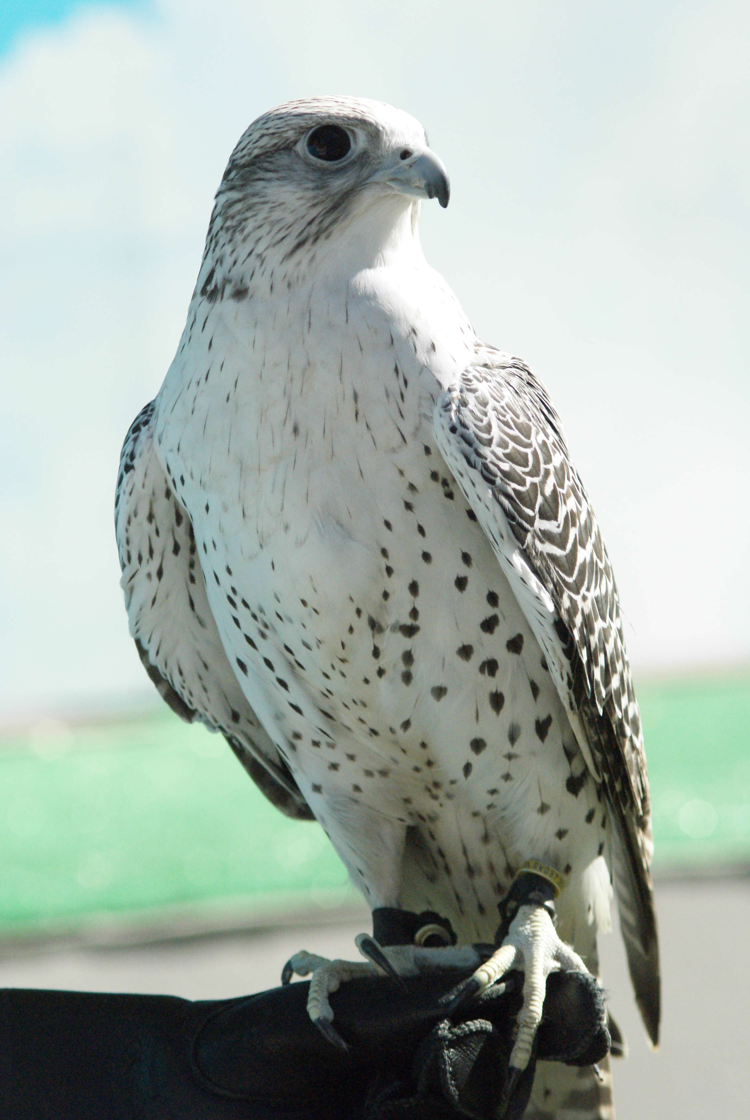
<instances>
[{"instance_id":1,"label":"falcon's right-hand wing with dark feathers edged in white","mask_svg":"<svg viewBox=\"0 0 750 1120\"><path fill-rule=\"evenodd\" d=\"M435 405L438 447L539 642L613 824L614 887L636 999L656 1044L659 951L651 810L620 603L589 497L544 385L482 347Z\"/></svg>"}]
</instances>

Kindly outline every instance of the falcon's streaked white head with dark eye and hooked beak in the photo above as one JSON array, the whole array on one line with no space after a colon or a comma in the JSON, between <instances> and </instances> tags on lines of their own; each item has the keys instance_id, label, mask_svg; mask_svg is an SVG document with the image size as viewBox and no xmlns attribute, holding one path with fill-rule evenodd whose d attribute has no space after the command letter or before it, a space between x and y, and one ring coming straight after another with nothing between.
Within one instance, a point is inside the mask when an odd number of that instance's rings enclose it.
<instances>
[{"instance_id":1,"label":"falcon's streaked white head with dark eye and hooked beak","mask_svg":"<svg viewBox=\"0 0 750 1120\"><path fill-rule=\"evenodd\" d=\"M390 105L311 97L263 113L232 152L209 228L206 255L253 246L294 265L364 218L381 232L418 202L447 206L447 172L425 130Z\"/></svg>"}]
</instances>

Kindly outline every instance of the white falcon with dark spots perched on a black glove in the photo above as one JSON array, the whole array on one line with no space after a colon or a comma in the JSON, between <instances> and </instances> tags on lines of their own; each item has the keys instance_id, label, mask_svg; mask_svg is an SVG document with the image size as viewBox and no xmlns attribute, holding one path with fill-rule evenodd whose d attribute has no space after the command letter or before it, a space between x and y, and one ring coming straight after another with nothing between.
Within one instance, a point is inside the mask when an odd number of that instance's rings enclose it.
<instances>
[{"instance_id":1,"label":"white falcon with dark spots perched on a black glove","mask_svg":"<svg viewBox=\"0 0 750 1120\"><path fill-rule=\"evenodd\" d=\"M117 538L161 696L321 822L373 911L488 942L528 860L557 877L557 930L521 906L476 973L526 971L522 1068L549 971L598 971L612 879L657 1040L650 804L614 577L561 420L419 245L419 200L448 190L422 125L378 102L250 125L122 449ZM429 952L448 951L390 959ZM330 1024L358 965L291 968L316 968ZM608 1117L608 1094L540 1064L527 1114Z\"/></svg>"}]
</instances>

